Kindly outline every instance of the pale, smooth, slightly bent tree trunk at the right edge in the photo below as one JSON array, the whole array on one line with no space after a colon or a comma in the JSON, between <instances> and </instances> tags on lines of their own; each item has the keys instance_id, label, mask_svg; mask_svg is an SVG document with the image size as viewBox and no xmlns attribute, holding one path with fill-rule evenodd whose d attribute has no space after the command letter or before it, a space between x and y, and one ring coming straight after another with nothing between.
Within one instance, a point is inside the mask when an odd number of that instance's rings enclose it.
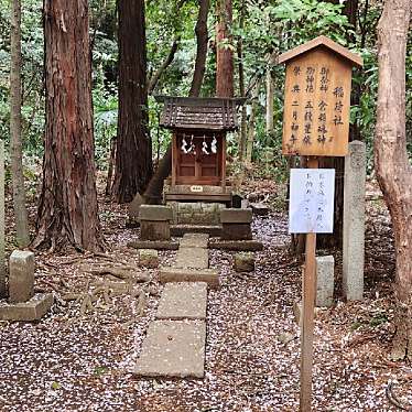
<instances>
[{"instance_id":1,"label":"pale, smooth, slightly bent tree trunk at the right edge","mask_svg":"<svg viewBox=\"0 0 412 412\"><path fill-rule=\"evenodd\" d=\"M410 0L387 0L378 24L378 105L375 160L397 253L397 334L392 358L412 360L412 167L406 154L405 54Z\"/></svg>"}]
</instances>

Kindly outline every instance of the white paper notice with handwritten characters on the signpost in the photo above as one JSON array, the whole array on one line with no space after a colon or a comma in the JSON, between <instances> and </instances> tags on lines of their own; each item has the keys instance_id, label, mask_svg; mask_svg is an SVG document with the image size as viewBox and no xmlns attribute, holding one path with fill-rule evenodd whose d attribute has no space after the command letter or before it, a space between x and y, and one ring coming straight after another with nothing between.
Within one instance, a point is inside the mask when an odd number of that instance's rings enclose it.
<instances>
[{"instance_id":1,"label":"white paper notice with handwritten characters on the signpost","mask_svg":"<svg viewBox=\"0 0 412 412\"><path fill-rule=\"evenodd\" d=\"M334 231L334 169L291 169L289 232Z\"/></svg>"}]
</instances>

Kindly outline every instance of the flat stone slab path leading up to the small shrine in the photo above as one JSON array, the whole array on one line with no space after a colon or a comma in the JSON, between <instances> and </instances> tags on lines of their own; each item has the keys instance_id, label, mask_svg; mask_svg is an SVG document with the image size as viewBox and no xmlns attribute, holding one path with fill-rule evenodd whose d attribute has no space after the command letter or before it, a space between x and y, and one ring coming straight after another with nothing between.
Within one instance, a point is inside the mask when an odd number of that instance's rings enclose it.
<instances>
[{"instance_id":1,"label":"flat stone slab path leading up to the small shrine","mask_svg":"<svg viewBox=\"0 0 412 412\"><path fill-rule=\"evenodd\" d=\"M186 234L173 269L187 270L178 282L169 282L162 293L156 321L149 325L133 373L147 377L192 377L205 375L207 283L197 282L192 270L208 270L208 236Z\"/></svg>"}]
</instances>

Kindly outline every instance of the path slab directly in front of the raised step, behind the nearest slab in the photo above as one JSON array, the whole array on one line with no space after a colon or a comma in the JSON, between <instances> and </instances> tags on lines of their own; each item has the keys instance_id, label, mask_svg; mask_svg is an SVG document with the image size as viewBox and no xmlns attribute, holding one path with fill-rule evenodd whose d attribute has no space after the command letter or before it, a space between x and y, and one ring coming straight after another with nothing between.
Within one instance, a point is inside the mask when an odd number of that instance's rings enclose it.
<instances>
[{"instance_id":1,"label":"path slab directly in front of the raised step, behind the nearest slab","mask_svg":"<svg viewBox=\"0 0 412 412\"><path fill-rule=\"evenodd\" d=\"M207 284L205 282L166 283L159 302L158 319L205 319Z\"/></svg>"}]
</instances>

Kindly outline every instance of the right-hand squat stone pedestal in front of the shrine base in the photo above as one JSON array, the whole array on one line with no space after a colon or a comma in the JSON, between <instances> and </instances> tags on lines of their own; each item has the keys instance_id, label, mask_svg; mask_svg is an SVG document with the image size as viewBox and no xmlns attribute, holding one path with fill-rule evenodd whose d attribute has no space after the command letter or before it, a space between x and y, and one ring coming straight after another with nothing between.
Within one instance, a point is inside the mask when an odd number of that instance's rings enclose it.
<instances>
[{"instance_id":1,"label":"right-hand squat stone pedestal in front of the shrine base","mask_svg":"<svg viewBox=\"0 0 412 412\"><path fill-rule=\"evenodd\" d=\"M250 240L252 231L251 209L228 208L220 212L221 239L224 240Z\"/></svg>"}]
</instances>

